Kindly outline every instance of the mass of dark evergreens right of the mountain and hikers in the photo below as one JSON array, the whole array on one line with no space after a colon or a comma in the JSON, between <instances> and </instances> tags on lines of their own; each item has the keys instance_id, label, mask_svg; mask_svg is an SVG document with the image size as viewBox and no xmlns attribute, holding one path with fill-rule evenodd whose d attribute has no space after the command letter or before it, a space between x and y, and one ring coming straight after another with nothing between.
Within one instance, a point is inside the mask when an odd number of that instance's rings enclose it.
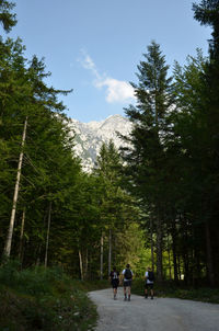
<instances>
[{"instance_id":1,"label":"mass of dark evergreens right of the mountain and hikers","mask_svg":"<svg viewBox=\"0 0 219 331\"><path fill-rule=\"evenodd\" d=\"M134 123L132 146L124 148L126 173L142 208L155 252L158 278L195 285L218 284L218 1L194 4L195 19L212 26L210 56L201 50L174 68L174 81L159 45L152 43L132 84L137 104L126 110ZM154 248L155 243L155 248ZM173 260L173 264L172 264Z\"/></svg>"}]
</instances>

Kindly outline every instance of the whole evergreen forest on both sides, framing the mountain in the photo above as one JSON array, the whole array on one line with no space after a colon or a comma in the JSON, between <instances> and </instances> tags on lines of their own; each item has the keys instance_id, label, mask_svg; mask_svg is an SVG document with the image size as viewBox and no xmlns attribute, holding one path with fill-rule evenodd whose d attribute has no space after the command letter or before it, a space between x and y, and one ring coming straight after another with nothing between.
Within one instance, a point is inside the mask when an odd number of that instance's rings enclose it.
<instances>
[{"instance_id":1,"label":"whole evergreen forest on both sides, framing the mountain","mask_svg":"<svg viewBox=\"0 0 219 331\"><path fill-rule=\"evenodd\" d=\"M10 38L14 12L0 1L1 264L103 279L130 263L138 277L151 265L161 283L219 286L219 1L193 4L211 27L207 57L197 48L170 72L160 45L146 47L130 147L103 144L92 173L60 101L72 91L48 85L44 59Z\"/></svg>"}]
</instances>

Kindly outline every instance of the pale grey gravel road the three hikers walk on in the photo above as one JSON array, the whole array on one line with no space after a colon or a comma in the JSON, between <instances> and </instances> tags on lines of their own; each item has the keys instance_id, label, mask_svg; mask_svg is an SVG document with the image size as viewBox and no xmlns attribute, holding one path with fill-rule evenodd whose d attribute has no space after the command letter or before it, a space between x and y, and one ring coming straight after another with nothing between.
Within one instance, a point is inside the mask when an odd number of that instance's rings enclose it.
<instances>
[{"instance_id":1,"label":"pale grey gravel road the three hikers walk on","mask_svg":"<svg viewBox=\"0 0 219 331\"><path fill-rule=\"evenodd\" d=\"M219 305L172 298L150 298L131 295L117 300L112 289L89 293L100 316L96 331L219 331Z\"/></svg>"}]
</instances>

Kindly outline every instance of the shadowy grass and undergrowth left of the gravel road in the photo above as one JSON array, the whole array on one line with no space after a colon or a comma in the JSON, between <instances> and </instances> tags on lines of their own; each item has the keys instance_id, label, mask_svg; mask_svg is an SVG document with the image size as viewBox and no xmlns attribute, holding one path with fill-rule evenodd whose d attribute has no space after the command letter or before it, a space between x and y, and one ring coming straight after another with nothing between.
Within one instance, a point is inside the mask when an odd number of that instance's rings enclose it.
<instances>
[{"instance_id":1,"label":"shadowy grass and undergrowth left of the gravel road","mask_svg":"<svg viewBox=\"0 0 219 331\"><path fill-rule=\"evenodd\" d=\"M96 324L96 307L87 292L106 282L71 279L60 269L19 271L16 262L0 267L1 331L88 331Z\"/></svg>"}]
</instances>

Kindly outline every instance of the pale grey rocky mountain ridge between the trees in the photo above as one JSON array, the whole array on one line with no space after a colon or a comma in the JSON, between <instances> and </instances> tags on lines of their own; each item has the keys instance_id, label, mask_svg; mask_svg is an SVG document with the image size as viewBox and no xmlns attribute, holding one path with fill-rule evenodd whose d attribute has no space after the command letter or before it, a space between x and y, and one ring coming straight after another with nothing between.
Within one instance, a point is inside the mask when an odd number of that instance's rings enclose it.
<instances>
[{"instance_id":1,"label":"pale grey rocky mountain ridge between the trees","mask_svg":"<svg viewBox=\"0 0 219 331\"><path fill-rule=\"evenodd\" d=\"M122 145L124 146L125 142L116 132L128 135L131 130L131 123L122 115L112 115L104 121L90 123L81 123L71 118L69 127L72 135L76 135L74 150L82 160L83 170L91 172L102 144L107 144L112 139L117 149Z\"/></svg>"}]
</instances>

